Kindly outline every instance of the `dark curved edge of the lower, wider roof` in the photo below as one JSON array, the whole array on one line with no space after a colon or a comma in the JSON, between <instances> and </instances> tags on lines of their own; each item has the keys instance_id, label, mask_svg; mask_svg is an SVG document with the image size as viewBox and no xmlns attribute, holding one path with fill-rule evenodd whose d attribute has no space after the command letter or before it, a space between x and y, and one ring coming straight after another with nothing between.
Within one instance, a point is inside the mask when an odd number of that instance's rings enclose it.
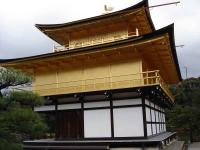
<instances>
[{"instance_id":1,"label":"dark curved edge of the lower, wider roof","mask_svg":"<svg viewBox=\"0 0 200 150\"><path fill-rule=\"evenodd\" d=\"M109 46L116 46L119 44L126 44L129 42L139 42L139 41L154 38L154 37L156 38L156 37L158 37L162 34L166 34L166 33L169 34L172 55L173 55L174 63L176 66L178 78L180 81L182 81L180 67L179 67L179 63L178 63L178 57L177 57L177 53L176 53L176 45L175 45L175 37L174 37L174 24L170 24L164 28L161 28L159 30L156 30L152 33L149 33L149 34L146 34L143 36L133 37L133 38L129 38L129 39L121 40L121 41L115 41L115 42L111 42L111 43L105 43L105 44L95 45L95 46L90 46L90 47L82 47L82 48L73 49L70 51L61 51L61 52L57 52L57 53L47 53L47 54L41 54L41 55L35 55L35 56L29 56L29 57L23 57L23 58L16 58L16 59L0 59L0 64L6 64L9 62L29 61L29 60L49 58L49 57L55 57L55 56L62 56L64 54L68 54L68 53L71 54L71 53L78 53L78 52L83 52L83 51L91 51L96 48L106 48Z\"/></svg>"}]
</instances>

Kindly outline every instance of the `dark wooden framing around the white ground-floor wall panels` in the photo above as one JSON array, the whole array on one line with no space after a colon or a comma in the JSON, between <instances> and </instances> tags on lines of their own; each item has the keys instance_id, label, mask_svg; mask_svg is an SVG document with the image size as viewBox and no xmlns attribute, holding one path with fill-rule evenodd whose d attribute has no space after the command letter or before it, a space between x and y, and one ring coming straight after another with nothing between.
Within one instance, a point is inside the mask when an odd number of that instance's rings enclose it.
<instances>
[{"instance_id":1,"label":"dark wooden framing around the white ground-floor wall panels","mask_svg":"<svg viewBox=\"0 0 200 150\"><path fill-rule=\"evenodd\" d=\"M76 108L76 109L70 109L70 110L77 110L77 109L81 109L81 112L82 112L82 115L84 117L84 111L85 110L101 110L101 109L110 109L110 124L111 124L111 137L109 139L119 139L119 138L126 138L126 137L115 137L114 136L114 117L113 117L113 109L119 109L119 108L130 108L130 107L141 107L142 108L142 112L143 112L143 129L144 129L144 137L143 138L147 138L148 135L147 135L147 124L151 124L151 132L152 132L152 135L157 135L158 134L158 127L156 125L156 132L155 134L153 134L153 124L159 124L159 126L161 126L162 124L165 124L163 122L161 122L161 120L159 121L157 119L157 113L159 113L159 117L161 117L160 115L161 114L164 114L164 112L162 112L160 109L156 109L155 108L155 104L153 101L151 101L151 105L147 105L145 104L145 96L142 96L140 97L141 98L141 104L131 104L131 105L122 105L122 106L113 106L113 101L117 101L116 99L112 99L112 98L107 98L107 99L104 99L104 100L93 100L93 101L84 101L84 100L79 100L79 101L75 101L75 102L69 102L69 103L62 103L62 104L81 104L81 108ZM137 98L123 98L123 99L119 99L119 100L134 100L134 99L138 99ZM109 101L108 101L109 100ZM147 99L148 100L148 99ZM89 102L110 102L110 106L104 106L104 107L92 107L92 108L84 108L84 103L89 103ZM59 105L62 105L62 104L59 104ZM61 112L61 111L66 111L66 110L58 110L58 102L56 100L54 100L54 105L55 105L55 114L57 114L58 112ZM153 106L153 107L152 107ZM159 107L162 107L160 105L158 105ZM150 119L151 121L147 121L146 119L146 108L149 108L150 109ZM152 110L154 110L154 113L152 112ZM157 111L157 112L156 112ZM153 115L154 114L154 115ZM57 116L57 115L56 115ZM155 117L155 122L152 122L152 117ZM157 122L159 121L159 122ZM83 118L83 122L84 122L84 118ZM83 129L84 129L84 123L83 123ZM84 134L83 134L84 135ZM136 137L137 138L137 137ZM88 138L84 138L83 139L88 139ZM89 138L89 139L94 139L94 138ZM95 138L96 139L96 138ZM99 138L98 138L99 139Z\"/></svg>"}]
</instances>

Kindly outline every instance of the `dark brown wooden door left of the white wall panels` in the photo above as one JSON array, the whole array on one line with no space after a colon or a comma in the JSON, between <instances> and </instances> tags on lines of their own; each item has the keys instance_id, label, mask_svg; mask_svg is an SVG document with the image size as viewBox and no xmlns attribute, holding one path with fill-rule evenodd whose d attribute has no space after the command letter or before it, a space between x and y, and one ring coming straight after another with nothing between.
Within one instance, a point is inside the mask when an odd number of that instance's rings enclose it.
<instances>
[{"instance_id":1,"label":"dark brown wooden door left of the white wall panels","mask_svg":"<svg viewBox=\"0 0 200 150\"><path fill-rule=\"evenodd\" d=\"M83 113L81 110L57 112L58 139L80 139L83 137Z\"/></svg>"}]
</instances>

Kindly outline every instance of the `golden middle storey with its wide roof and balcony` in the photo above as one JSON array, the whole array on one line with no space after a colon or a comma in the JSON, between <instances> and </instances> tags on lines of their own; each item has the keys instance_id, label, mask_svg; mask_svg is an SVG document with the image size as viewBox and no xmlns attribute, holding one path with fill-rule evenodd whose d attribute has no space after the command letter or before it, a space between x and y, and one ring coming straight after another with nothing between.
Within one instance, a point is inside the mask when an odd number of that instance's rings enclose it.
<instances>
[{"instance_id":1,"label":"golden middle storey with its wide roof and balcony","mask_svg":"<svg viewBox=\"0 0 200 150\"><path fill-rule=\"evenodd\" d=\"M32 74L33 90L43 96L160 85L170 97L167 84L181 80L173 25L143 36L0 64Z\"/></svg>"}]
</instances>

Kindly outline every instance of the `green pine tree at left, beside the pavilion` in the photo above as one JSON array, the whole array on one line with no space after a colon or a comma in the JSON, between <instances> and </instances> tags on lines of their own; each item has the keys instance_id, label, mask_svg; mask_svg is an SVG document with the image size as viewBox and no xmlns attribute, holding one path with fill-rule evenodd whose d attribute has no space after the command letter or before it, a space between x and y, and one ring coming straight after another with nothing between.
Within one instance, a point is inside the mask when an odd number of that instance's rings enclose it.
<instances>
[{"instance_id":1,"label":"green pine tree at left, beside the pavilion","mask_svg":"<svg viewBox=\"0 0 200 150\"><path fill-rule=\"evenodd\" d=\"M0 150L21 149L23 140L41 138L47 131L44 119L33 111L44 99L31 91L10 90L31 81L19 70L0 69Z\"/></svg>"}]
</instances>

